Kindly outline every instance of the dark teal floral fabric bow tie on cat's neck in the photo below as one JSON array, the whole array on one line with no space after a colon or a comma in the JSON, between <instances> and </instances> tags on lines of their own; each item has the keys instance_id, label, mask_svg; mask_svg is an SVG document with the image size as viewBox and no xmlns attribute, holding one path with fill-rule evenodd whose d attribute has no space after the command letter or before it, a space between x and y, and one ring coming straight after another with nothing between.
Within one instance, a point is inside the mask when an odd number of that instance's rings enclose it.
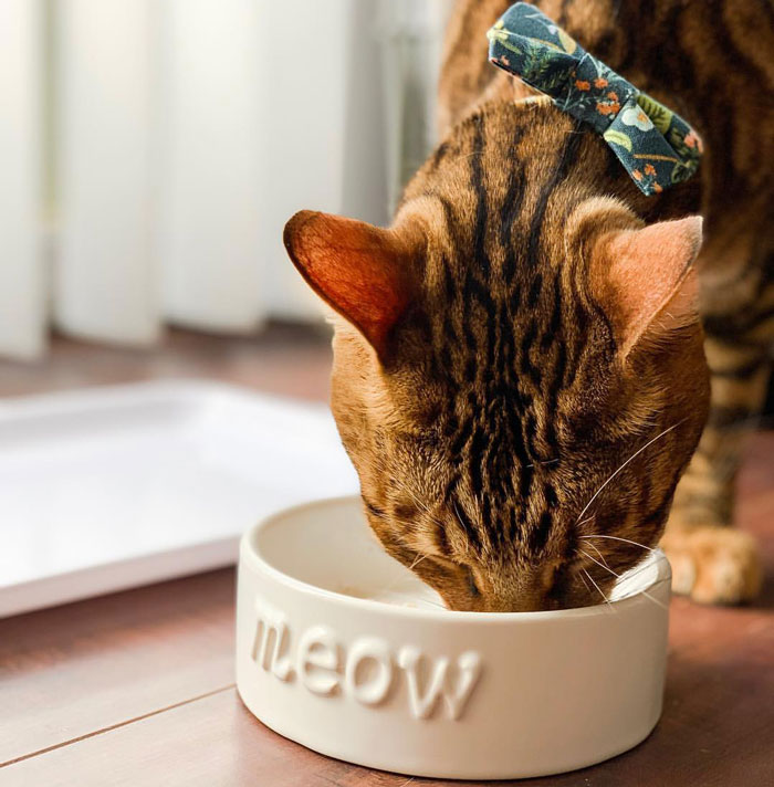
<instances>
[{"instance_id":1,"label":"dark teal floral fabric bow tie on cat's neck","mask_svg":"<svg viewBox=\"0 0 774 787\"><path fill-rule=\"evenodd\" d=\"M702 143L686 120L588 54L534 6L512 6L487 38L494 65L588 123L644 193L695 172Z\"/></svg>"}]
</instances>

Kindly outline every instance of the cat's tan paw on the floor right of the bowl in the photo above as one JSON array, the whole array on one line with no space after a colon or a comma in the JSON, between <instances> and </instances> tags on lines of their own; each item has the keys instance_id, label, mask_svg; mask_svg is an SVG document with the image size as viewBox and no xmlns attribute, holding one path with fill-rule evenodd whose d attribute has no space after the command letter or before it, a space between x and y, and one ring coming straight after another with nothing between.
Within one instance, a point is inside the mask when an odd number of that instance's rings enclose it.
<instances>
[{"instance_id":1,"label":"cat's tan paw on the floor right of the bowl","mask_svg":"<svg viewBox=\"0 0 774 787\"><path fill-rule=\"evenodd\" d=\"M757 596L763 571L755 541L714 525L665 533L661 548L672 566L672 591L700 604L741 604Z\"/></svg>"}]
</instances>

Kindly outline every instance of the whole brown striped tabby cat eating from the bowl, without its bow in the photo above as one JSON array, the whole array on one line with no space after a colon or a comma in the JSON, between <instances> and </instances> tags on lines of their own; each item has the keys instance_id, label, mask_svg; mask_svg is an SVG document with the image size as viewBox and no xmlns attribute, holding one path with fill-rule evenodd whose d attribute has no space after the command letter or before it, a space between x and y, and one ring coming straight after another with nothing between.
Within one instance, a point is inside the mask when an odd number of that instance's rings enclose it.
<instances>
[{"instance_id":1,"label":"whole brown striped tabby cat eating from the bowl, without its bow","mask_svg":"<svg viewBox=\"0 0 774 787\"><path fill-rule=\"evenodd\" d=\"M749 600L760 560L731 525L774 337L772 4L536 3L701 134L699 174L652 197L488 63L509 4L458 0L441 141L391 227L285 227L335 313L332 409L368 523L451 609L603 602L659 539L676 591Z\"/></svg>"}]
</instances>

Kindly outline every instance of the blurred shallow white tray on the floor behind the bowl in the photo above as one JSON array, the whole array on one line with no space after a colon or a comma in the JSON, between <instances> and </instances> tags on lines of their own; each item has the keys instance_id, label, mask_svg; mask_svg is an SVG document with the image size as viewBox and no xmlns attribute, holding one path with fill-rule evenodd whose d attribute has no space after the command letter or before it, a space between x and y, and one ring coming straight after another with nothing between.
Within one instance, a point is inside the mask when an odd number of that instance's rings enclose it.
<instances>
[{"instance_id":1,"label":"blurred shallow white tray on the floor behind the bowl","mask_svg":"<svg viewBox=\"0 0 774 787\"><path fill-rule=\"evenodd\" d=\"M210 382L0 400L0 617L233 564L357 491L327 408Z\"/></svg>"}]
</instances>

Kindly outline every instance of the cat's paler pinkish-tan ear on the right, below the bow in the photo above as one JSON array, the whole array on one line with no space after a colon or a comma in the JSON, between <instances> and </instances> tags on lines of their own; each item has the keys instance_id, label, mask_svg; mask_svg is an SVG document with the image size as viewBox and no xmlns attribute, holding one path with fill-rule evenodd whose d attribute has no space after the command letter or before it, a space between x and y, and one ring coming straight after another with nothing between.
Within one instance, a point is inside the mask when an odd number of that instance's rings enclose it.
<instances>
[{"instance_id":1,"label":"cat's paler pinkish-tan ear on the right, below the bow","mask_svg":"<svg viewBox=\"0 0 774 787\"><path fill-rule=\"evenodd\" d=\"M626 357L644 338L667 336L698 315L693 262L701 217L603 235L595 249L595 290Z\"/></svg>"}]
</instances>

